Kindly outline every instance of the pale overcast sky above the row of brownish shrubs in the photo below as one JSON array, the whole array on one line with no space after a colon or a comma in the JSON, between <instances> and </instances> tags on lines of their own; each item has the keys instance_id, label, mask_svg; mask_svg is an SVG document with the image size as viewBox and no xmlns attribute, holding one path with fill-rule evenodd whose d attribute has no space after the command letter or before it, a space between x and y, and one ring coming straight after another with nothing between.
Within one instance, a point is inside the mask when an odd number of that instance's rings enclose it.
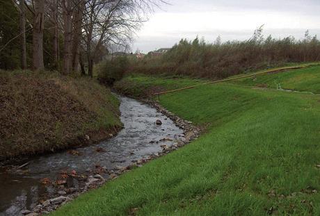
<instances>
[{"instance_id":1,"label":"pale overcast sky above the row of brownish shrubs","mask_svg":"<svg viewBox=\"0 0 320 216\"><path fill-rule=\"evenodd\" d=\"M150 16L135 37L133 51L172 47L197 35L213 42L245 40L265 25L264 35L303 38L320 35L320 0L169 0Z\"/></svg>"}]
</instances>

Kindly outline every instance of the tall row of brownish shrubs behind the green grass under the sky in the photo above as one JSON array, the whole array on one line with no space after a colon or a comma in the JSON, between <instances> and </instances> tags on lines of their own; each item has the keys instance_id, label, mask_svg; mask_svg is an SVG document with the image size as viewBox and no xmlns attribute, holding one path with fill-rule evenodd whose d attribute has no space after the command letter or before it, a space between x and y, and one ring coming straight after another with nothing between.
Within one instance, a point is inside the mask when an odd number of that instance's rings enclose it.
<instances>
[{"instance_id":1,"label":"tall row of brownish shrubs behind the green grass under the sky","mask_svg":"<svg viewBox=\"0 0 320 216\"><path fill-rule=\"evenodd\" d=\"M305 39L293 37L264 39L262 27L245 41L214 43L195 38L180 40L161 57L147 56L138 62L132 72L144 74L177 74L205 78L226 78L258 69L278 67L288 63L314 62L320 60L320 41L317 36L305 33Z\"/></svg>"}]
</instances>

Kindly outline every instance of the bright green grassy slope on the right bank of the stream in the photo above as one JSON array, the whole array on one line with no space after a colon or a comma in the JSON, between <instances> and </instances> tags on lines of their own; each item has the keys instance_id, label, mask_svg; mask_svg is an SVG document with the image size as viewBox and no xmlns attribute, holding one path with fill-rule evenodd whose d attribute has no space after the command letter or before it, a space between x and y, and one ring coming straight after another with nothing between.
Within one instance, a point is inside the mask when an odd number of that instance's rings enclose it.
<instances>
[{"instance_id":1,"label":"bright green grassy slope on the right bank of the stream","mask_svg":"<svg viewBox=\"0 0 320 216\"><path fill-rule=\"evenodd\" d=\"M221 83L161 103L207 133L53 215L320 215L317 96Z\"/></svg>"}]
</instances>

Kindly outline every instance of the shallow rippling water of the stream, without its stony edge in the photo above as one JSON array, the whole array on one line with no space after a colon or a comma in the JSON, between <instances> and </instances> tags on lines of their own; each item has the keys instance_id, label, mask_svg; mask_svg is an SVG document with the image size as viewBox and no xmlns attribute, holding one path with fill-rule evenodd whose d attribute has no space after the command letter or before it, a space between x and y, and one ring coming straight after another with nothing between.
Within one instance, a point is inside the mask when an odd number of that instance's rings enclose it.
<instances>
[{"instance_id":1,"label":"shallow rippling water of the stream, without its stony edge","mask_svg":"<svg viewBox=\"0 0 320 216\"><path fill-rule=\"evenodd\" d=\"M33 158L20 173L0 169L0 215L19 215L21 210L36 206L42 194L54 194L53 188L40 183L41 178L55 179L62 171L88 172L95 165L109 170L117 165L126 167L135 160L161 151L161 145L170 146L174 142L161 141L163 138L174 140L175 135L183 133L151 106L127 97L120 97L120 101L124 129L115 138L76 149L77 155L65 151ZM155 124L157 119L163 123L161 126Z\"/></svg>"}]
</instances>

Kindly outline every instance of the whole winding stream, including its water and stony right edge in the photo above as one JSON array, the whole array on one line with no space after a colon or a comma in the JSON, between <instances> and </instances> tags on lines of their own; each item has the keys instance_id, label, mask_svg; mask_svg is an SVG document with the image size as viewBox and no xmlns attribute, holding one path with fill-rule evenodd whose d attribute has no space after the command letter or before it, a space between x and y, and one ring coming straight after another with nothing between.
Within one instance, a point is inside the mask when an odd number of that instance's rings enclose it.
<instances>
[{"instance_id":1,"label":"whole winding stream, including its water and stony right edge","mask_svg":"<svg viewBox=\"0 0 320 216\"><path fill-rule=\"evenodd\" d=\"M123 172L183 147L200 129L154 101L120 97L124 129L88 147L0 167L0 216L45 215ZM90 139L88 137L88 139Z\"/></svg>"}]
</instances>

